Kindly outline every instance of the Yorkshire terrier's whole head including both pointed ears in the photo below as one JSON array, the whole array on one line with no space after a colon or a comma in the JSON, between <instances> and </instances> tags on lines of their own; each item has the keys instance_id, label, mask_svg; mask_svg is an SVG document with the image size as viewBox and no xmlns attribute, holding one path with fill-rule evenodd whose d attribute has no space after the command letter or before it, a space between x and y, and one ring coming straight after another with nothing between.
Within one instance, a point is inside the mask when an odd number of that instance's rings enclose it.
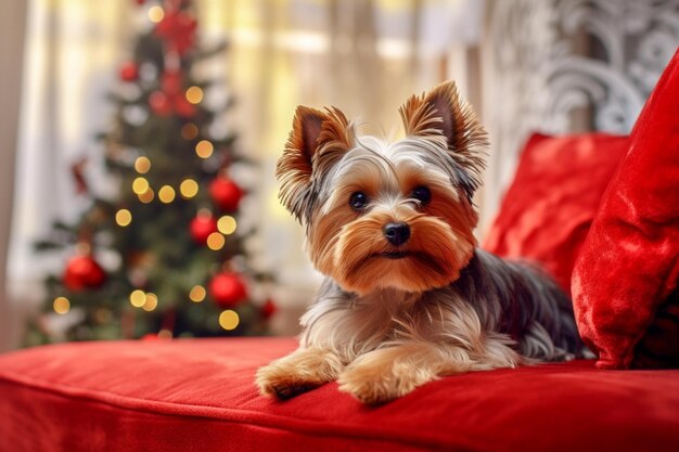
<instances>
[{"instance_id":1,"label":"Yorkshire terrier's whole head including both pointed ears","mask_svg":"<svg viewBox=\"0 0 679 452\"><path fill-rule=\"evenodd\" d=\"M401 106L406 138L357 137L337 108L299 106L277 177L315 267L358 294L424 292L471 259L486 133L453 82Z\"/></svg>"}]
</instances>

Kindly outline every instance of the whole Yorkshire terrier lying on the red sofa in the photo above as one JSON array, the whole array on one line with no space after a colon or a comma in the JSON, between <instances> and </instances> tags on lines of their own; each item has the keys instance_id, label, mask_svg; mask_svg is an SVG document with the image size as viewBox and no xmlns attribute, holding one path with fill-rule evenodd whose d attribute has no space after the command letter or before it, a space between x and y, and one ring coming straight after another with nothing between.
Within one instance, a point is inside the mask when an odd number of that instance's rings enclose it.
<instances>
[{"instance_id":1,"label":"whole Yorkshire terrier lying on the red sofa","mask_svg":"<svg viewBox=\"0 0 679 452\"><path fill-rule=\"evenodd\" d=\"M357 137L337 108L299 106L280 197L326 279L300 345L259 369L267 396L337 380L375 404L441 376L579 350L569 299L539 270L476 247L486 132L453 82L400 107L406 138Z\"/></svg>"}]
</instances>

